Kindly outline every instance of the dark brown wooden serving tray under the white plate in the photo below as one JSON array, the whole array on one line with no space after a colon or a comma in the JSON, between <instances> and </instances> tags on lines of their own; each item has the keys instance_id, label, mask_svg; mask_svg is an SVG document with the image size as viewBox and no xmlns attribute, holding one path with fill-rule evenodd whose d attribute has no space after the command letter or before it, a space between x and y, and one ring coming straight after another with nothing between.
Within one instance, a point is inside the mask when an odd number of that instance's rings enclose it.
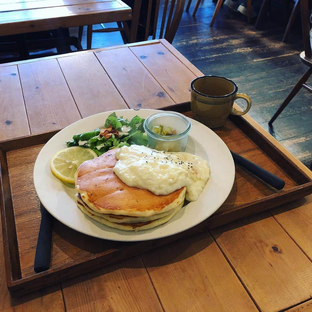
<instances>
[{"instance_id":1,"label":"dark brown wooden serving tray under the white plate","mask_svg":"<svg viewBox=\"0 0 312 312\"><path fill-rule=\"evenodd\" d=\"M189 103L165 110L192 117ZM38 290L312 193L312 182L305 173L308 169L300 161L249 116L230 116L225 126L215 130L217 135L232 151L282 178L286 182L282 191L236 166L233 189L216 213L190 230L152 241L101 240L54 220L50 269L36 274L33 263L41 213L33 185L33 167L42 146L58 131L0 142L1 221L7 286L12 296Z\"/></svg>"}]
</instances>

